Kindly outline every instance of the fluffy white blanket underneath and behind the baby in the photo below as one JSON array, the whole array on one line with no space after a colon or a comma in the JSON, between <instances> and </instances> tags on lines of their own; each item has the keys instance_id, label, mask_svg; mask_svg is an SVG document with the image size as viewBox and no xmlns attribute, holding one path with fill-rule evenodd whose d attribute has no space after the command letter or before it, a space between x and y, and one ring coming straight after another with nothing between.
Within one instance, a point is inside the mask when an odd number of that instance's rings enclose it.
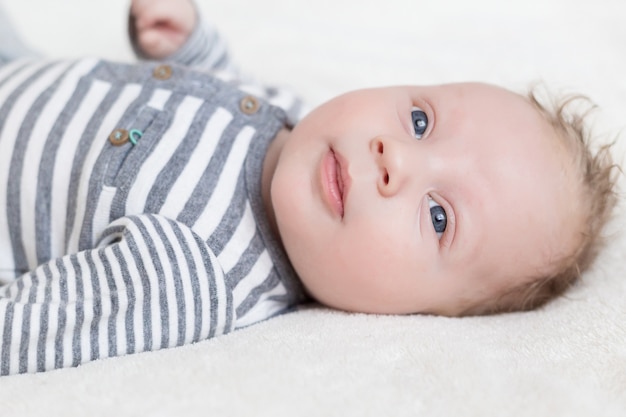
<instances>
[{"instance_id":1,"label":"fluffy white blanket underneath and behind the baby","mask_svg":"<svg viewBox=\"0 0 626 417\"><path fill-rule=\"evenodd\" d=\"M126 0L0 1L48 55L132 59ZM600 106L600 139L626 125L624 0L199 1L242 69L312 104L374 85L522 91L543 80ZM450 319L312 307L192 346L0 378L0 415L624 416L623 230L621 208L583 282L537 311Z\"/></svg>"}]
</instances>

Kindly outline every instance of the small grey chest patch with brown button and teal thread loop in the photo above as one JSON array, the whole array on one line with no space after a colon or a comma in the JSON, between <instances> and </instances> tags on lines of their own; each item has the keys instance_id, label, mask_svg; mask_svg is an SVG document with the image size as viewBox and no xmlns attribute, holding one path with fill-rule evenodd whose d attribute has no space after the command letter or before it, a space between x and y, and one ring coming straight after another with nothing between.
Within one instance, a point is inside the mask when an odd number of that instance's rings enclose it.
<instances>
[{"instance_id":1,"label":"small grey chest patch with brown button and teal thread loop","mask_svg":"<svg viewBox=\"0 0 626 417\"><path fill-rule=\"evenodd\" d=\"M131 181L163 136L170 119L168 111L145 106L137 117L114 129L108 138L104 185L120 187Z\"/></svg>"}]
</instances>

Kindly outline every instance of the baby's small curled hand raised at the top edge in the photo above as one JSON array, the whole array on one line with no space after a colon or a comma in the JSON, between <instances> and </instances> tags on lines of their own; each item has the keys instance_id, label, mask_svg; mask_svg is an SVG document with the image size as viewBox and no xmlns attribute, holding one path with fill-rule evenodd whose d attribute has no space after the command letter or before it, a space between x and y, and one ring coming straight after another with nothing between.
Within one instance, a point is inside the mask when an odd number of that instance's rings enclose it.
<instances>
[{"instance_id":1,"label":"baby's small curled hand raised at the top edge","mask_svg":"<svg viewBox=\"0 0 626 417\"><path fill-rule=\"evenodd\" d=\"M137 45L153 59L176 52L196 26L191 0L132 0L130 13Z\"/></svg>"}]
</instances>

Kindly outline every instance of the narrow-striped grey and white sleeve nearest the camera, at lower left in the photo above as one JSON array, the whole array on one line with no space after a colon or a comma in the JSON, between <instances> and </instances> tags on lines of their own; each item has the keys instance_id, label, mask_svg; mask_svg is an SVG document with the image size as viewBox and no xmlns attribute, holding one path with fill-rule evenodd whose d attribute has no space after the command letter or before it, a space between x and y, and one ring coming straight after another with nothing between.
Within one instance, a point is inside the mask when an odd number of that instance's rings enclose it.
<instances>
[{"instance_id":1,"label":"narrow-striped grey and white sleeve nearest the camera, at lower left","mask_svg":"<svg viewBox=\"0 0 626 417\"><path fill-rule=\"evenodd\" d=\"M181 346L232 330L217 258L158 215L111 223L97 248L0 288L0 375Z\"/></svg>"}]
</instances>

